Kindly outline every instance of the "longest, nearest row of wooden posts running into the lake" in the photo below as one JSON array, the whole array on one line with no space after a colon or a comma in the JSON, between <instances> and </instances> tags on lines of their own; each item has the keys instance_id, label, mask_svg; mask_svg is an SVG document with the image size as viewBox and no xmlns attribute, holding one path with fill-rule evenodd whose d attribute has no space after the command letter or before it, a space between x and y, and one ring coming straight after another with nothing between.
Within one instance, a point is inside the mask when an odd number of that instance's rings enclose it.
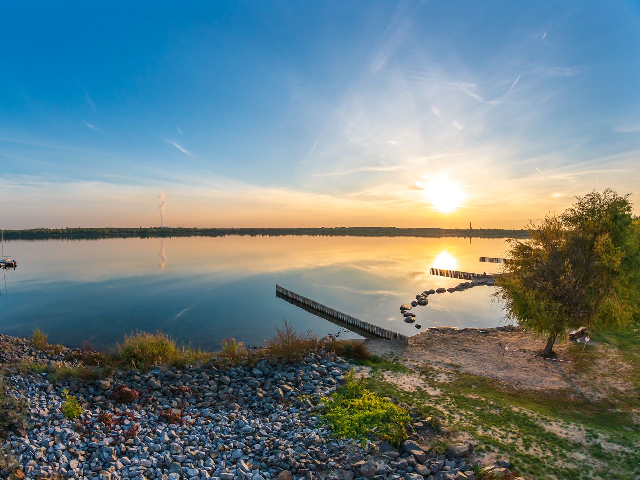
<instances>
[{"instance_id":1,"label":"longest, nearest row of wooden posts running into the lake","mask_svg":"<svg viewBox=\"0 0 640 480\"><path fill-rule=\"evenodd\" d=\"M322 303L318 303L317 301L311 300L310 298L297 294L296 292L280 287L280 285L276 285L276 296L287 301L292 300L291 303L298 303L300 307L303 307L308 312L316 315L320 314L318 315L319 317L328 319L337 325L344 326L348 330L358 333L365 338L402 340L403 342L409 341L409 337L402 333L392 332L391 330L388 330L388 328L383 328L357 319L356 317L352 317L351 315L344 314L334 308L327 307Z\"/></svg>"}]
</instances>

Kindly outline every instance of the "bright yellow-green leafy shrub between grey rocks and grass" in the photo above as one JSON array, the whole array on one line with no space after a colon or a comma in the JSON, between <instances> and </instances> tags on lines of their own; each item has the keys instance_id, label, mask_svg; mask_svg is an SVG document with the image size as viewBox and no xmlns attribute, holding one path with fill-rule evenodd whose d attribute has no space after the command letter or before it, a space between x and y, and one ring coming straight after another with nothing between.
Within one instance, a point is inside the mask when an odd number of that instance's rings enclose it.
<instances>
[{"instance_id":1,"label":"bright yellow-green leafy shrub between grey rocks and grass","mask_svg":"<svg viewBox=\"0 0 640 480\"><path fill-rule=\"evenodd\" d=\"M367 390L364 378L358 378L354 371L349 373L346 385L339 392L323 400L326 402L324 419L338 438L374 437L396 446L407 438L409 412Z\"/></svg>"}]
</instances>

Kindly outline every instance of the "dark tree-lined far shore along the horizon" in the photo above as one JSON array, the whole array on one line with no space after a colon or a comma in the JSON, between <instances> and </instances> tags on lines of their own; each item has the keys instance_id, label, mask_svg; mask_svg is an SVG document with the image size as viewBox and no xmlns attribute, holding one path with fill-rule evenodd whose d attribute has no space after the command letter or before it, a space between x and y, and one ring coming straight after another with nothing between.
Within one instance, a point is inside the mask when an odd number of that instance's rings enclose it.
<instances>
[{"instance_id":1,"label":"dark tree-lined far shore along the horizon","mask_svg":"<svg viewBox=\"0 0 640 480\"><path fill-rule=\"evenodd\" d=\"M107 238L170 238L170 237L465 237L465 238L528 238L528 230L481 228L32 228L4 230L5 240L64 240Z\"/></svg>"}]
</instances>

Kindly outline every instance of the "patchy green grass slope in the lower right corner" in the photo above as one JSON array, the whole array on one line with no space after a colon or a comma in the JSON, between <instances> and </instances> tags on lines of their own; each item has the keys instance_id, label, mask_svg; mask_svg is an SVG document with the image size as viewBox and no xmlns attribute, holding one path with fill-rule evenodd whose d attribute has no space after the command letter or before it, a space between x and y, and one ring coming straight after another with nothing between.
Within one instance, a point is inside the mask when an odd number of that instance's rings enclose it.
<instances>
[{"instance_id":1,"label":"patchy green grass slope in the lower right corner","mask_svg":"<svg viewBox=\"0 0 640 480\"><path fill-rule=\"evenodd\" d=\"M632 367L610 373L622 375L636 389L640 387L640 335L607 333L591 338L616 349ZM577 355L580 349L576 348ZM598 349L588 347L580 369L592 368L589 361L598 355ZM633 394L612 394L595 401L568 391L527 392L458 369L447 368L447 375L436 375L442 369L429 365L420 373L431 388L409 392L385 380L383 372L397 371L396 362L383 359L372 366L367 379L369 390L412 405L423 418L442 419L453 432L452 438L455 428L451 426L461 424L465 434L474 439L479 454L508 458L527 480L621 480L640 476L640 403Z\"/></svg>"}]
</instances>

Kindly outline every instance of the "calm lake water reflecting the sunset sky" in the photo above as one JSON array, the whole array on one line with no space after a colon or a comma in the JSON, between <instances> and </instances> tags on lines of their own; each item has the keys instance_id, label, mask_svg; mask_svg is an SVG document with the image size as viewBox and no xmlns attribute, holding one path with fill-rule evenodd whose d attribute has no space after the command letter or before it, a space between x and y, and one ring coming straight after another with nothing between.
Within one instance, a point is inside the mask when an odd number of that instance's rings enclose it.
<instances>
[{"instance_id":1,"label":"calm lake water reflecting the sunset sky","mask_svg":"<svg viewBox=\"0 0 640 480\"><path fill-rule=\"evenodd\" d=\"M283 287L369 323L405 335L399 307L428 289L461 280L431 268L499 271L479 257L504 257L504 239L411 237L182 237L8 241L18 260L6 271L0 332L29 337L34 328L52 343L104 349L134 330L162 330L174 339L217 349L234 337L262 345L284 319L318 335L340 329L287 301ZM4 289L6 280L6 289ZM492 327L504 317L492 287L429 297L416 324ZM340 338L360 338L340 333Z\"/></svg>"}]
</instances>

